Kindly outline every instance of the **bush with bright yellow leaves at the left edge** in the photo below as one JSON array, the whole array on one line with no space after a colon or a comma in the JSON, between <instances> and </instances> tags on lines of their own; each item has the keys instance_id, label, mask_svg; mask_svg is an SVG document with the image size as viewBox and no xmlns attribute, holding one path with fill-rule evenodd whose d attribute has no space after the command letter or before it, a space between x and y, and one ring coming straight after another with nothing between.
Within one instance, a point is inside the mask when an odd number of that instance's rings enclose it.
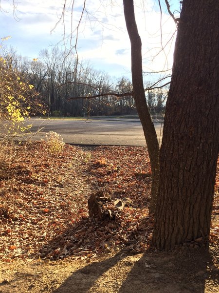
<instances>
[{"instance_id":1,"label":"bush with bright yellow leaves at the left edge","mask_svg":"<svg viewBox=\"0 0 219 293\"><path fill-rule=\"evenodd\" d=\"M42 107L34 86L22 81L19 72L7 66L5 60L0 57L1 126L6 127L9 134L24 132L30 127L24 126L25 118L29 118L33 110L42 112Z\"/></svg>"}]
</instances>

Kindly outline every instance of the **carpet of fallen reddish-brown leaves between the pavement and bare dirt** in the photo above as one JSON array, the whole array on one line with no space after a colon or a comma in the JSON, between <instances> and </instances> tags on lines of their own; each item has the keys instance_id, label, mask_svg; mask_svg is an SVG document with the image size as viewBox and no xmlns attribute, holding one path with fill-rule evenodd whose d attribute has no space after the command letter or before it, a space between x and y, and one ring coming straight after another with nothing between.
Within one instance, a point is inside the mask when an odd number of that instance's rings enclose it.
<instances>
[{"instance_id":1,"label":"carpet of fallen reddish-brown leaves between the pavement and bare dirt","mask_svg":"<svg viewBox=\"0 0 219 293\"><path fill-rule=\"evenodd\" d=\"M2 148L0 157L0 259L91 258L126 246L149 246L153 218L147 204L151 178L146 147L68 146L51 154L45 142ZM217 173L216 188L219 185ZM132 204L114 220L88 214L88 198L102 190L113 200ZM218 215L218 189L213 215ZM217 242L219 223L212 224Z\"/></svg>"}]
</instances>

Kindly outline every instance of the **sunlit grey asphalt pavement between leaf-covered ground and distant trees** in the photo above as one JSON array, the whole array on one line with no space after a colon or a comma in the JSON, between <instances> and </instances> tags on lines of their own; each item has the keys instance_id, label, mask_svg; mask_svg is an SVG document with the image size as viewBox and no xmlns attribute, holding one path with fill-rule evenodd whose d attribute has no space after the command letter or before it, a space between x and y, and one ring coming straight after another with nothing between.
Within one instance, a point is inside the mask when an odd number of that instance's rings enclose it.
<instances>
[{"instance_id":1,"label":"sunlit grey asphalt pavement between leaf-covered ground and distant trees","mask_svg":"<svg viewBox=\"0 0 219 293\"><path fill-rule=\"evenodd\" d=\"M65 143L75 145L146 146L138 119L31 119L34 140L45 139L46 133L55 131ZM162 139L162 124L155 122L158 139ZM40 131L39 131L40 129ZM32 135L31 134L31 135Z\"/></svg>"}]
</instances>

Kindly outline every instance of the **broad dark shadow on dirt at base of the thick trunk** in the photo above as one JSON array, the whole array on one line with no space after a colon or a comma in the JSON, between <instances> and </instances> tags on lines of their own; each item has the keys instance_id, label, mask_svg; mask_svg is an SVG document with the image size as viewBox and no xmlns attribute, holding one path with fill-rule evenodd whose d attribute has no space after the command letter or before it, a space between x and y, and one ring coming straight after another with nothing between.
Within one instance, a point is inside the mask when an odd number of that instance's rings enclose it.
<instances>
[{"instance_id":1,"label":"broad dark shadow on dirt at base of the thick trunk","mask_svg":"<svg viewBox=\"0 0 219 293\"><path fill-rule=\"evenodd\" d=\"M212 257L204 249L145 253L118 292L133 293L134 288L134 292L144 293L204 293L207 280L218 280L216 271L208 269L212 265Z\"/></svg>"}]
</instances>

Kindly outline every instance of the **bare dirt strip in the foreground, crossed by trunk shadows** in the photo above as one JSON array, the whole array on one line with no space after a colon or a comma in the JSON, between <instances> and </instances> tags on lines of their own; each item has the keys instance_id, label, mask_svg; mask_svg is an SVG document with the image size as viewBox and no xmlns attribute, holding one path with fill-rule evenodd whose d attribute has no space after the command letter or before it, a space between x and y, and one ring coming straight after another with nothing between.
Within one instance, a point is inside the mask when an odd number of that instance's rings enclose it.
<instances>
[{"instance_id":1,"label":"bare dirt strip in the foreground, crossed by trunk shadows","mask_svg":"<svg viewBox=\"0 0 219 293\"><path fill-rule=\"evenodd\" d=\"M1 293L218 293L214 249L1 263Z\"/></svg>"}]
</instances>

